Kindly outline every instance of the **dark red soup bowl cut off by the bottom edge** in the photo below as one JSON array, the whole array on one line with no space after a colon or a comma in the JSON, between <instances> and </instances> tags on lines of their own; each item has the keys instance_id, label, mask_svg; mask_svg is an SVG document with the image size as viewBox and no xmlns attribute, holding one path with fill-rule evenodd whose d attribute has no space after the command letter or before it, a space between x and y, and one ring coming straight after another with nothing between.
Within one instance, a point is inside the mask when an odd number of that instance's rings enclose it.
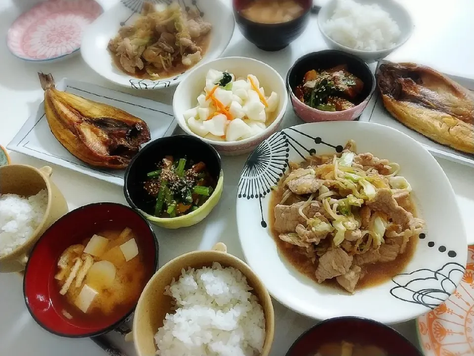
<instances>
[{"instance_id":1,"label":"dark red soup bowl cut off by the bottom edge","mask_svg":"<svg viewBox=\"0 0 474 356\"><path fill-rule=\"evenodd\" d=\"M303 333L286 356L423 356L405 337L374 320L327 319Z\"/></svg>"}]
</instances>

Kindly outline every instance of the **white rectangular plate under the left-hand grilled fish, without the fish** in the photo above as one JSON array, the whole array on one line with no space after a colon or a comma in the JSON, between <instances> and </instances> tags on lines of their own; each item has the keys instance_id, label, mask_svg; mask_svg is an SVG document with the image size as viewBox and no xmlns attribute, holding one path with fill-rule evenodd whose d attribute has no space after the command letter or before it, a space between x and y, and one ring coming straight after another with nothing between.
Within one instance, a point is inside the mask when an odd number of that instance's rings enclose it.
<instances>
[{"instance_id":1,"label":"white rectangular plate under the left-hand grilled fish, without the fish","mask_svg":"<svg viewBox=\"0 0 474 356\"><path fill-rule=\"evenodd\" d=\"M115 106L145 121L150 129L152 140L173 134L176 120L171 105L125 94L117 90L63 79L56 83L58 90L67 91L111 106ZM87 165L73 156L53 136L44 114L44 102L13 137L8 149L44 161L66 167L91 177L122 185L125 170L98 169Z\"/></svg>"}]
</instances>

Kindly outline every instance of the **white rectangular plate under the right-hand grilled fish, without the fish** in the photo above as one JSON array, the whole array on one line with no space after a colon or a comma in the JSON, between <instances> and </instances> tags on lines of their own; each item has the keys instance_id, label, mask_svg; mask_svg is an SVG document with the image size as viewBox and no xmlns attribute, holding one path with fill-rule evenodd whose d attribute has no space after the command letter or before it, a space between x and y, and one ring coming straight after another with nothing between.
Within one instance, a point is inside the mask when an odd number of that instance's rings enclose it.
<instances>
[{"instance_id":1,"label":"white rectangular plate under the right-hand grilled fish, without the fish","mask_svg":"<svg viewBox=\"0 0 474 356\"><path fill-rule=\"evenodd\" d=\"M377 65L377 70L380 64L384 63L384 61L380 61ZM377 71L376 71L377 73ZM460 78L456 76L446 75L447 77L451 78L455 82L459 83L463 87L474 90L474 81L467 78ZM385 110L384 104L382 102L382 97L380 93L377 92L372 96L369 101L369 104L365 108L365 110L360 115L360 121L368 121L377 124L382 124L385 126L390 126L398 131L401 131L404 134L416 139L420 142L423 146L425 146L434 156L441 157L450 161L462 163L471 167L474 167L474 155L469 153L464 153L461 151L457 151L452 149L448 146L444 146L442 144L436 143L432 141L428 137L417 133L414 130L406 127L402 123L398 122L387 110ZM377 137L374 137L377 139Z\"/></svg>"}]
</instances>

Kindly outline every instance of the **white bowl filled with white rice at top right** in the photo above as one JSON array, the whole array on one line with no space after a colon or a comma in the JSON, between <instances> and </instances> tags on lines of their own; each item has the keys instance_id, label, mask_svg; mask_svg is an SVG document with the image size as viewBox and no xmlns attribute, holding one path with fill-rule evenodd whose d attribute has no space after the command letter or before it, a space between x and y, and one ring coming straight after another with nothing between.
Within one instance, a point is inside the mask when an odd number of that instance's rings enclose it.
<instances>
[{"instance_id":1,"label":"white bowl filled with white rice at top right","mask_svg":"<svg viewBox=\"0 0 474 356\"><path fill-rule=\"evenodd\" d=\"M413 20L395 0L329 0L318 13L326 44L372 63L410 38Z\"/></svg>"}]
</instances>

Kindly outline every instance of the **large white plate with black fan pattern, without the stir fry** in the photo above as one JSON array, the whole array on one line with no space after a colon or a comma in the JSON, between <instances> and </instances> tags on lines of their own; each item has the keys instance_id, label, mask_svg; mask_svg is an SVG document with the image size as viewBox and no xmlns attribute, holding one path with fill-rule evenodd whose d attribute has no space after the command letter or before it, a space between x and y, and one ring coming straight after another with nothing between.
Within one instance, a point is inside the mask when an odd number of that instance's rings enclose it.
<instances>
[{"instance_id":1,"label":"large white plate with black fan pattern, without the stir fry","mask_svg":"<svg viewBox=\"0 0 474 356\"><path fill-rule=\"evenodd\" d=\"M371 152L400 165L413 187L426 237L418 241L403 274L350 295L317 284L277 250L269 228L270 187L288 161L310 153L332 153L349 139L358 152ZM340 147L338 147L340 146ZM250 155L237 188L237 227L245 258L269 292L290 309L316 319L360 316L386 324L413 319L444 302L460 282L467 242L454 191L433 156L418 142L386 126L364 122L312 123L282 130Z\"/></svg>"}]
</instances>

